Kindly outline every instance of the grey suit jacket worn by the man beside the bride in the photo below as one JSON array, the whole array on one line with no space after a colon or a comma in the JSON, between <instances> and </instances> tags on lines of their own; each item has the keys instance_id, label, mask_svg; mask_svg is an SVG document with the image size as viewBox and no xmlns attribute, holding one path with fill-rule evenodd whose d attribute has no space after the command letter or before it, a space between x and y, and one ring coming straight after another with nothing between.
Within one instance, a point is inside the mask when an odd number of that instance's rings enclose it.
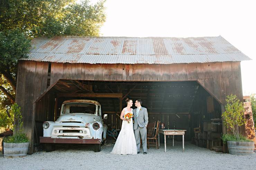
<instances>
[{"instance_id":1,"label":"grey suit jacket worn by the man beside the bride","mask_svg":"<svg viewBox=\"0 0 256 170\"><path fill-rule=\"evenodd\" d=\"M138 113L138 117L136 115L137 108L133 110L134 115L134 126L133 129L136 130L139 127L143 128L145 125L148 125L148 111L146 108L141 107Z\"/></svg>"}]
</instances>

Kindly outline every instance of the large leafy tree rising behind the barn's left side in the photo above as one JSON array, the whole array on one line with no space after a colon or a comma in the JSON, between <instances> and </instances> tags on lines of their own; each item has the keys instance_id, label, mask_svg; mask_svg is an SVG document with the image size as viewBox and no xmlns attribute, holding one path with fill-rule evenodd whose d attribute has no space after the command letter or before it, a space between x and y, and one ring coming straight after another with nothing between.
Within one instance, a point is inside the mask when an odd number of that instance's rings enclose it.
<instances>
[{"instance_id":1,"label":"large leafy tree rising behind the barn's left side","mask_svg":"<svg viewBox=\"0 0 256 170\"><path fill-rule=\"evenodd\" d=\"M105 0L0 1L0 110L15 101L17 61L39 36L99 36Z\"/></svg>"}]
</instances>

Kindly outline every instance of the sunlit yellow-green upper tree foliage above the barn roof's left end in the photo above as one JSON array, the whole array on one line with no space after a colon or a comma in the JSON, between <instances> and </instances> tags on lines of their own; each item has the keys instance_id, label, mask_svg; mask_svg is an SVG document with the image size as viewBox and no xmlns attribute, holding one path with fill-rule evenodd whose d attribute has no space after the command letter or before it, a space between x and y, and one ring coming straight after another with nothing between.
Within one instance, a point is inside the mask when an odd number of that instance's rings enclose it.
<instances>
[{"instance_id":1,"label":"sunlit yellow-green upper tree foliage above the barn roof's left end","mask_svg":"<svg viewBox=\"0 0 256 170\"><path fill-rule=\"evenodd\" d=\"M28 38L38 36L99 36L106 20L105 0L2 0L0 31L19 29Z\"/></svg>"}]
</instances>

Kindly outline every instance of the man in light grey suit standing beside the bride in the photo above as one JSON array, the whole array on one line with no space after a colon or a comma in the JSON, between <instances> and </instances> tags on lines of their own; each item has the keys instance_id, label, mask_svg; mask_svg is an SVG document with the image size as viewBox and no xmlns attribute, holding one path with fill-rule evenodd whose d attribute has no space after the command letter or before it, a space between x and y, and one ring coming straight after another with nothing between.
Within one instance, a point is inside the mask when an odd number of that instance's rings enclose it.
<instances>
[{"instance_id":1,"label":"man in light grey suit standing beside the bride","mask_svg":"<svg viewBox=\"0 0 256 170\"><path fill-rule=\"evenodd\" d=\"M137 153L140 149L140 137L142 139L142 147L144 154L147 154L147 124L148 124L148 111L146 108L141 107L142 101L140 99L135 101L136 109L133 110L134 117L134 134L137 144Z\"/></svg>"}]
</instances>

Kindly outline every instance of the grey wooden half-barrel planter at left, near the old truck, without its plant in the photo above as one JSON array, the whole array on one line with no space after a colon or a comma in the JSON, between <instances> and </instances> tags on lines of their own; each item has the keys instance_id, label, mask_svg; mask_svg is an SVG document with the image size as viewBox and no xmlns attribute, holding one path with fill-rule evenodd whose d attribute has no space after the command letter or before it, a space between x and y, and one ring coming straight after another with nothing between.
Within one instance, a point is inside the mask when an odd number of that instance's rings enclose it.
<instances>
[{"instance_id":1,"label":"grey wooden half-barrel planter at left, near the old truck, without its plant","mask_svg":"<svg viewBox=\"0 0 256 170\"><path fill-rule=\"evenodd\" d=\"M25 157L28 152L29 142L26 143L3 143L4 158Z\"/></svg>"}]
</instances>

